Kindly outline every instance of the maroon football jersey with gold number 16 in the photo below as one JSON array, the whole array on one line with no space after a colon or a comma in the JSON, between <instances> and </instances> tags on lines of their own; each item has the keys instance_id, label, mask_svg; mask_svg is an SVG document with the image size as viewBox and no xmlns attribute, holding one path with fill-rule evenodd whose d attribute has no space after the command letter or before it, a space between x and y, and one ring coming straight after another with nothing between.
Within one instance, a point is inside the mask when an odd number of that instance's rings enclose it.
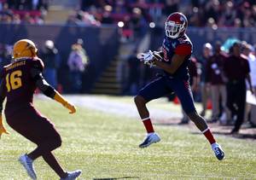
<instances>
[{"instance_id":1,"label":"maroon football jersey with gold number 16","mask_svg":"<svg viewBox=\"0 0 256 180\"><path fill-rule=\"evenodd\" d=\"M7 97L5 111L15 112L20 107L32 105L36 90L32 68L43 71L43 61L39 58L24 58L3 67L2 78Z\"/></svg>"}]
</instances>

